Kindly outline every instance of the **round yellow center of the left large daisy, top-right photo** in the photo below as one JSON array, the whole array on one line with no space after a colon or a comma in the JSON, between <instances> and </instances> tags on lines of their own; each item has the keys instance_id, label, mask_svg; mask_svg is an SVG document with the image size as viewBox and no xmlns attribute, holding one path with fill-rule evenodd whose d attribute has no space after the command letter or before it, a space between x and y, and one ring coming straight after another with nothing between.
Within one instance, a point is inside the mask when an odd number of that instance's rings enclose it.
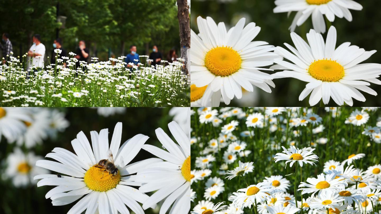
<instances>
[{"instance_id":1,"label":"round yellow center of the left large daisy, top-right photo","mask_svg":"<svg viewBox=\"0 0 381 214\"><path fill-rule=\"evenodd\" d=\"M216 76L229 76L241 67L239 53L231 47L217 47L208 51L205 56L205 67Z\"/></svg>"}]
</instances>

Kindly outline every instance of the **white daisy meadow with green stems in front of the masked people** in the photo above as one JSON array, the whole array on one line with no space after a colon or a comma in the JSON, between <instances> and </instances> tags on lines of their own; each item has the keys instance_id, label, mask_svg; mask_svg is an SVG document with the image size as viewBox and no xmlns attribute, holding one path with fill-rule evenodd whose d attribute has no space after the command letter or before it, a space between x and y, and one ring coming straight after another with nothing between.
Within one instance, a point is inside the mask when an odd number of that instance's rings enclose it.
<instances>
[{"instance_id":1,"label":"white daisy meadow with green stems in front of the masked people","mask_svg":"<svg viewBox=\"0 0 381 214\"><path fill-rule=\"evenodd\" d=\"M189 106L189 77L181 71L181 58L154 68L148 65L148 56L140 56L144 64L126 68L124 56L106 62L92 57L91 63L76 67L74 53L59 57L60 50L55 51L56 60L45 69L28 69L25 55L10 57L0 66L2 106Z\"/></svg>"}]
</instances>

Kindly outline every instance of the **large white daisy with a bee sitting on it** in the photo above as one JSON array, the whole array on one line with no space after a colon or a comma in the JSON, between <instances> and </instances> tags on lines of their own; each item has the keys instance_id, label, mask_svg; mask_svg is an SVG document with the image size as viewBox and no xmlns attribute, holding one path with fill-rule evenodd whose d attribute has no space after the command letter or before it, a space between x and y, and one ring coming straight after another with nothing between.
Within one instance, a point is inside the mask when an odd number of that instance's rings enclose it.
<instances>
[{"instance_id":1,"label":"large white daisy with a bee sitting on it","mask_svg":"<svg viewBox=\"0 0 381 214\"><path fill-rule=\"evenodd\" d=\"M160 161L160 159L151 158L128 164L140 151L148 137L138 134L120 147L122 123L117 123L115 126L110 146L108 135L108 129L102 129L99 134L96 131L91 131L91 144L93 146L91 149L90 142L81 131L77 134L77 138L72 141L76 154L66 149L55 148L46 157L61 163L50 160L38 160L36 162L36 166L67 175L41 174L34 177L34 179L41 179L37 183L38 187L44 185L58 186L46 194L46 198L51 198L53 206L70 204L84 196L68 213L81 213L85 210L88 213L95 213L97 210L99 213L109 213L109 209L113 209L115 212L128 213L126 207L128 206L136 214L144 214L137 202L144 203L149 197L128 186L141 185L140 181L135 182L128 175L134 174L139 168L145 168L151 163ZM110 153L115 155L116 174L105 172L104 168L99 165L99 161L111 159ZM152 204L152 207L155 207L155 204Z\"/></svg>"}]
</instances>

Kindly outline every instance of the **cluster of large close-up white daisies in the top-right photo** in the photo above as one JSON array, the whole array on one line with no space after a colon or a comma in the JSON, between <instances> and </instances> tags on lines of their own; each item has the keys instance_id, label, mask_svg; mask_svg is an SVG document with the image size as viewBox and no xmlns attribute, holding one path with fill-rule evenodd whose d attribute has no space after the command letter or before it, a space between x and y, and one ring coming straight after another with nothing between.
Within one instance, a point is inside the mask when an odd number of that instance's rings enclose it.
<instances>
[{"instance_id":1,"label":"cluster of large close-up white daisies in the top-right photo","mask_svg":"<svg viewBox=\"0 0 381 214\"><path fill-rule=\"evenodd\" d=\"M253 41L261 28L254 22L245 26L240 19L231 29L210 17L197 18L199 34L191 31L191 106L218 107L230 104L243 91L253 92L254 86L271 93L277 78L296 78L307 82L299 101L309 96L311 106L332 99L337 105L352 106L354 99L365 101L362 92L376 96L371 83L381 85L381 64L361 62L376 51L365 51L350 42L336 47L336 28L331 26L324 40L325 21L335 16L351 21L351 10L362 6L353 0L275 0L274 13L297 11L290 27L294 46L269 45ZM314 29L306 34L307 41L293 32L312 16ZM304 35L303 35L304 37ZM269 65L272 65L269 67ZM281 70L276 73L268 71Z\"/></svg>"}]
</instances>

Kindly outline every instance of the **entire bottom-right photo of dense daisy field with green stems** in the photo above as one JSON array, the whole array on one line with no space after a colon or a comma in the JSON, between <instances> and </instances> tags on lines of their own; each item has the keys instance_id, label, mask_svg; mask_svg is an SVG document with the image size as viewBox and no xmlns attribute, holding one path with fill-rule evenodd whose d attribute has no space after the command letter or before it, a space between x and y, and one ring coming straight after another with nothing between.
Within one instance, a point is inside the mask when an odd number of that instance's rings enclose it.
<instances>
[{"instance_id":1,"label":"entire bottom-right photo of dense daisy field with green stems","mask_svg":"<svg viewBox=\"0 0 381 214\"><path fill-rule=\"evenodd\" d=\"M192 214L375 214L378 107L192 108Z\"/></svg>"}]
</instances>

